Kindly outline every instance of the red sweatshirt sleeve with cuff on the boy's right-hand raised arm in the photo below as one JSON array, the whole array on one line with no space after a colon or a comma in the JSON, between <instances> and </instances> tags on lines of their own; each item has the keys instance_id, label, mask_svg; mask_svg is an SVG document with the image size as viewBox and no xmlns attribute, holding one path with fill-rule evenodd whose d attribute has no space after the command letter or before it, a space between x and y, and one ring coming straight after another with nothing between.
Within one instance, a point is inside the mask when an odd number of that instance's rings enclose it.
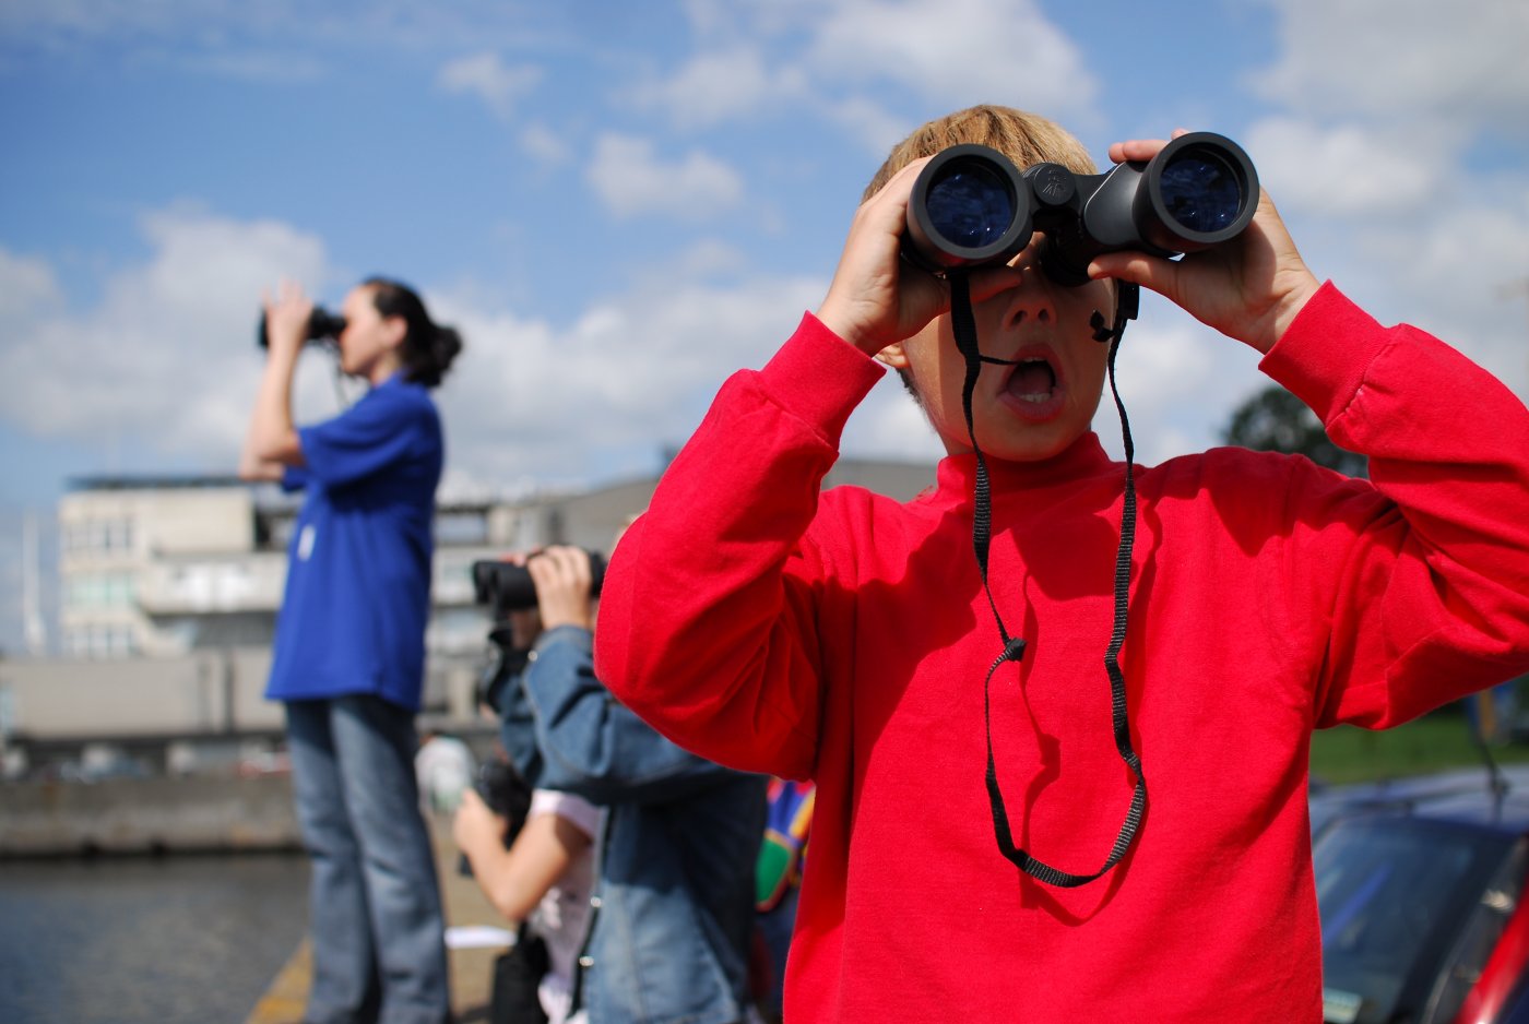
<instances>
[{"instance_id":1,"label":"red sweatshirt sleeve with cuff on the boy's right-hand raised arm","mask_svg":"<svg viewBox=\"0 0 1529 1024\"><path fill-rule=\"evenodd\" d=\"M1316 724L1385 727L1529 668L1529 411L1500 381L1408 326L1382 327L1332 284L1263 370L1300 396L1338 445L1368 457L1373 491L1329 489L1342 549L1292 562L1336 573L1315 619ZM1318 488L1313 488L1318 491ZM1295 546L1292 546L1295 550ZM1329 559L1326 567L1316 559Z\"/></svg>"}]
</instances>

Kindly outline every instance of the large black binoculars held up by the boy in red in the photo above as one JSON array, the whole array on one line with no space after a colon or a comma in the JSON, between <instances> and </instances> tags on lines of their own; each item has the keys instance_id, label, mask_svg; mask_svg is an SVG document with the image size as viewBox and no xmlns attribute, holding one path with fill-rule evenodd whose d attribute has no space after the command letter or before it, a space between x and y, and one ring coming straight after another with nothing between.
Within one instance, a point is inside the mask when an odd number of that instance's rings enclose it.
<instances>
[{"instance_id":1,"label":"large black binoculars held up by the boy in red","mask_svg":"<svg viewBox=\"0 0 1529 1024\"><path fill-rule=\"evenodd\" d=\"M933 274L1003 264L1046 232L1041 267L1066 287L1089 280L1101 252L1176 257L1235 238L1258 206L1258 174L1231 139L1182 134L1150 160L1075 174L1060 164L1020 171L985 145L942 150L908 202L904 255Z\"/></svg>"}]
</instances>

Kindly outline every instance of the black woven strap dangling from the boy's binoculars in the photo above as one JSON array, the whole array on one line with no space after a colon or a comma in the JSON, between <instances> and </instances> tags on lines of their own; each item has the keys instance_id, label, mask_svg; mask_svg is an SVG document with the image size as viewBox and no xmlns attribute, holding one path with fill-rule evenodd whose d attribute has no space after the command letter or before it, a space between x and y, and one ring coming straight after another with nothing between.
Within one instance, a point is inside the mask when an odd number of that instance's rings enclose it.
<instances>
[{"instance_id":1,"label":"black woven strap dangling from the boy's binoculars","mask_svg":"<svg viewBox=\"0 0 1529 1024\"><path fill-rule=\"evenodd\" d=\"M977 570L982 573L982 588L988 595L988 607L992 610L992 621L997 624L998 639L1003 642L1003 653L988 668L988 677L982 683L982 715L988 741L986 783L988 801L992 807L994 836L998 841L998 850L1003 856L1031 877L1058 888L1075 888L1087 882L1093 882L1121 862L1125 853L1131 848L1131 844L1136 841L1138 828L1147 813L1147 776L1142 775L1141 758L1131 747L1130 720L1125 708L1125 676L1121 672L1118 659L1121 645L1125 642L1125 624L1130 608L1131 587L1131 547L1136 541L1136 451L1131 443L1130 420L1125 417L1125 403L1121 400L1119 388L1115 384L1115 355L1119 352L1121 335L1125 333L1125 322L1136 316L1138 290L1135 284L1124 281L1118 283L1121 290L1118 293L1113 327L1105 327L1104 316L1098 312L1090 321L1095 339L1110 345L1107 364L1110 371L1110 393L1115 396L1115 408L1121 414L1121 434L1125 440L1125 495L1121 507L1121 546L1115 559L1115 628L1110 633L1110 643L1104 653L1104 669L1110 677L1110 717L1115 729L1115 749L1119 752L1121 760L1125 761L1125 766L1136 778L1136 790L1131 793L1131 804L1125 812L1125 822L1121 825L1119 834L1116 834L1115 845L1110 848L1110 854L1105 857L1104 865L1093 874L1070 874L1032 857L1029 853L1015 845L1014 834L1009 828L1009 812L1003 804L1003 793L998 789L998 769L992 757L992 677L998 671L998 666L1005 662L1018 662L1024 657L1024 640L1021 637L1009 636L1008 628L1003 625L1003 617L998 614L998 605L994 601L992 587L988 585L988 549L992 540L992 491L988 480L988 460L983 457L982 448L977 445L977 429L972 420L971 403L977 387L977 376L982 373L982 364L1001 364L1008 361L983 356L977 348L977 324L971 312L971 293L965 274L951 272L950 286L951 329L956 335L956 347L966 361L966 381L962 388L962 411L966 416L966 436L971 439L971 448L977 457L977 475L972 488L972 549L977 555Z\"/></svg>"}]
</instances>

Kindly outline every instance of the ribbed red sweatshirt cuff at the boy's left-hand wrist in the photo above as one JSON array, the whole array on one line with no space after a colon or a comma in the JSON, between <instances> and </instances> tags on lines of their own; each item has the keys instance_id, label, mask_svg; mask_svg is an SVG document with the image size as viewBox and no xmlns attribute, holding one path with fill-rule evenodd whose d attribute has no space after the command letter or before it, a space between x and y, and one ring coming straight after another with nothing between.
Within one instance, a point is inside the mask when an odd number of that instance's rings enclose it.
<instances>
[{"instance_id":1,"label":"ribbed red sweatshirt cuff at the boy's left-hand wrist","mask_svg":"<svg viewBox=\"0 0 1529 1024\"><path fill-rule=\"evenodd\" d=\"M887 367L809 312L760 370L760 382L777 405L815 425L838 446L850 413L885 373Z\"/></svg>"}]
</instances>

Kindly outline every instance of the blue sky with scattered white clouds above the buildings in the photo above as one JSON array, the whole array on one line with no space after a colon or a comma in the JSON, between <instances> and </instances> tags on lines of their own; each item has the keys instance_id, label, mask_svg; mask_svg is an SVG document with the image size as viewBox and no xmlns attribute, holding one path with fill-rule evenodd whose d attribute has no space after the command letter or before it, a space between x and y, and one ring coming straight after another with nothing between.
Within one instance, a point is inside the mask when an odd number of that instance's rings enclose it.
<instances>
[{"instance_id":1,"label":"blue sky with scattered white clouds above the buildings","mask_svg":"<svg viewBox=\"0 0 1529 1024\"><path fill-rule=\"evenodd\" d=\"M1529 394L1524 52L1521 0L8 0L0 648L69 478L232 469L281 277L399 277L463 332L450 486L648 474L821 300L887 148L972 102L1101 164L1232 136L1320 277ZM1156 301L1121 379L1145 462L1263 385ZM298 417L339 400L307 358ZM937 454L894 384L846 449Z\"/></svg>"}]
</instances>

